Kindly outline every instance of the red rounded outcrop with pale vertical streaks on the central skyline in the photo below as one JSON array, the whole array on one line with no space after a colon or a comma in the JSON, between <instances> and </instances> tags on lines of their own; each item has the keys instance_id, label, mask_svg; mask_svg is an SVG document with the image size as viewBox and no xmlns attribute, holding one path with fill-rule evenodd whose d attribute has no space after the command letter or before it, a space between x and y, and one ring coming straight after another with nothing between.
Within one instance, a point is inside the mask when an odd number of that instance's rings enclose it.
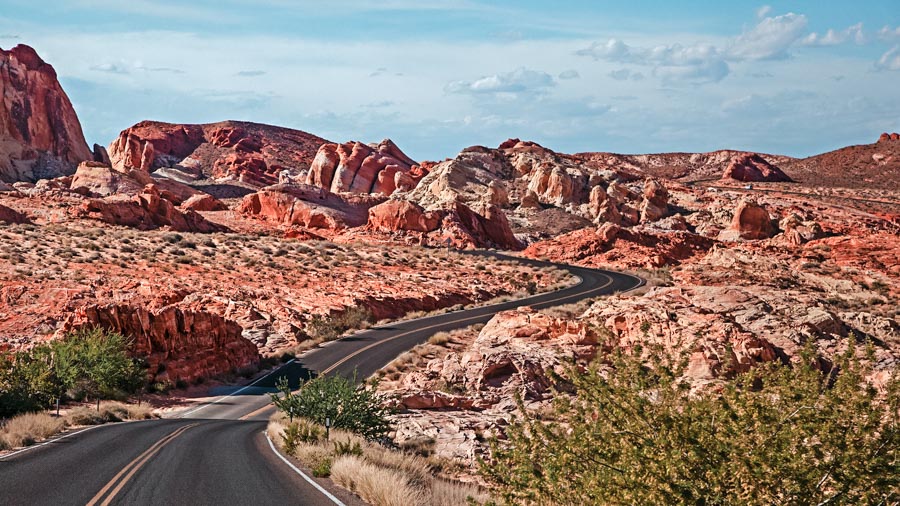
<instances>
[{"instance_id":1,"label":"red rounded outcrop with pale vertical streaks on the central skyline","mask_svg":"<svg viewBox=\"0 0 900 506\"><path fill-rule=\"evenodd\" d=\"M390 139L379 144L324 144L309 168L306 184L334 193L409 191L425 175Z\"/></svg>"}]
</instances>

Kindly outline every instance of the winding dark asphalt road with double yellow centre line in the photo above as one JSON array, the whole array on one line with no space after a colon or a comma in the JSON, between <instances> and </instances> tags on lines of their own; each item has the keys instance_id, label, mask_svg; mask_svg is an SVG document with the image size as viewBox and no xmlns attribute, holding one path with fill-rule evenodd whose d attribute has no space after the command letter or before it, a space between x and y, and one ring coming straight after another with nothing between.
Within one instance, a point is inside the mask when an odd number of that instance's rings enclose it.
<instances>
[{"instance_id":1,"label":"winding dark asphalt road with double yellow centre line","mask_svg":"<svg viewBox=\"0 0 900 506\"><path fill-rule=\"evenodd\" d=\"M220 397L178 418L101 426L0 457L0 504L334 504L282 462L262 434L272 409L266 394L274 391L276 379L286 376L297 385L314 374L354 371L365 378L436 332L483 323L522 305L570 304L643 283L627 274L558 266L581 282L526 299L375 327L316 348L248 386L213 392ZM331 492L339 501L358 504L345 491Z\"/></svg>"}]
</instances>

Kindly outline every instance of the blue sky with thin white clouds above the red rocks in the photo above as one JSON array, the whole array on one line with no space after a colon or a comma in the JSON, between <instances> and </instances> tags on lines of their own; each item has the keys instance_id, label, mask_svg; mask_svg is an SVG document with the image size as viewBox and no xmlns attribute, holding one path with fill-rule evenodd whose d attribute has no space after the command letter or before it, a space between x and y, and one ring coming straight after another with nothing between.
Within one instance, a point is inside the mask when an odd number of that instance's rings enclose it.
<instances>
[{"instance_id":1,"label":"blue sky with thin white clouds above the red rocks","mask_svg":"<svg viewBox=\"0 0 900 506\"><path fill-rule=\"evenodd\" d=\"M898 0L2 0L0 47L56 69L89 143L226 119L418 160L808 156L900 131Z\"/></svg>"}]
</instances>

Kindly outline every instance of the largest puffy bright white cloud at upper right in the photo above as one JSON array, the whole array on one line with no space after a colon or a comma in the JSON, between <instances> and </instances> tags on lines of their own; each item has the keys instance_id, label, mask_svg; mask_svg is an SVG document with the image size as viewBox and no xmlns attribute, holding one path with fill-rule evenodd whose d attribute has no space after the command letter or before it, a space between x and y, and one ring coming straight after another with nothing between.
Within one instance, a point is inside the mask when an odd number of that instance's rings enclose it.
<instances>
[{"instance_id":1,"label":"largest puffy bright white cloud at upper right","mask_svg":"<svg viewBox=\"0 0 900 506\"><path fill-rule=\"evenodd\" d=\"M793 12L764 18L736 37L726 53L731 60L786 58L788 49L806 33L806 25L806 16Z\"/></svg>"}]
</instances>

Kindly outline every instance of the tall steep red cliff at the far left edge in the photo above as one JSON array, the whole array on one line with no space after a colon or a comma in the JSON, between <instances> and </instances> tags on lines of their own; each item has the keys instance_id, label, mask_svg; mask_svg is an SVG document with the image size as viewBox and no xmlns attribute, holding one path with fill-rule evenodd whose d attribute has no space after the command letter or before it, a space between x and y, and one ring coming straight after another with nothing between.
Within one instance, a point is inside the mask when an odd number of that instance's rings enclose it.
<instances>
[{"instance_id":1,"label":"tall steep red cliff at the far left edge","mask_svg":"<svg viewBox=\"0 0 900 506\"><path fill-rule=\"evenodd\" d=\"M65 176L93 154L56 71L34 49L0 49L0 181Z\"/></svg>"}]
</instances>

